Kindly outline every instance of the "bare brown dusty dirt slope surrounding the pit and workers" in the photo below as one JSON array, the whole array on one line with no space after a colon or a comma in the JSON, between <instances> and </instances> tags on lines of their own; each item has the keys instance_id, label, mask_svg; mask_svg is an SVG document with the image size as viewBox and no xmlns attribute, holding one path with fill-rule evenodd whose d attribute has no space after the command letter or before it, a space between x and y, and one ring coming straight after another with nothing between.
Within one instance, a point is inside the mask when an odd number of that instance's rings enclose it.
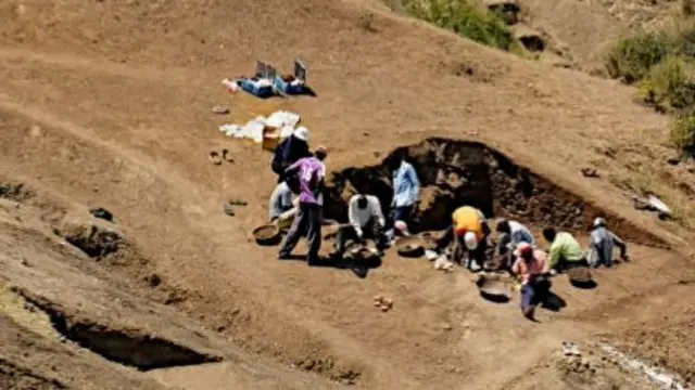
<instances>
[{"instance_id":1,"label":"bare brown dusty dirt slope surrounding the pit and workers","mask_svg":"<svg viewBox=\"0 0 695 390\"><path fill-rule=\"evenodd\" d=\"M561 341L597 338L692 380L695 178L667 164L668 119L631 89L376 1L5 0L0 17L0 387L649 388L557 358ZM316 98L219 84L255 60L289 70L298 55ZM489 193L494 216L539 229L548 221L523 205L574 207L577 220L560 210L551 222L584 237L606 214L632 261L598 270L593 290L557 278L566 307L540 323L516 300L483 301L465 271L393 252L366 278L278 261L250 239L275 183L270 154L217 131L278 108L302 115L334 172L431 136L483 143L542 190L501 192L516 180L505 172ZM235 162L210 162L222 147ZM587 166L602 177L583 178ZM623 191L645 186L680 221L634 210ZM230 199L248 206L228 217ZM394 309L376 310L377 294Z\"/></svg>"}]
</instances>

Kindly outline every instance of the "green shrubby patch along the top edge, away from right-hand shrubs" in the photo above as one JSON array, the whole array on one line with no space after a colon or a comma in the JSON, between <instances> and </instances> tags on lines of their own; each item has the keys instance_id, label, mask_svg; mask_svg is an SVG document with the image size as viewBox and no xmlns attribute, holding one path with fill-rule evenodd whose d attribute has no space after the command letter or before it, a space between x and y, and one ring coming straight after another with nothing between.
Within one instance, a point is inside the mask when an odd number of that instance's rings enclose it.
<instances>
[{"instance_id":1,"label":"green shrubby patch along the top edge, away from right-hand shrubs","mask_svg":"<svg viewBox=\"0 0 695 390\"><path fill-rule=\"evenodd\" d=\"M498 15L480 10L467 0L407 0L403 3L412 16L479 43L506 51L516 44L511 31Z\"/></svg>"}]
</instances>

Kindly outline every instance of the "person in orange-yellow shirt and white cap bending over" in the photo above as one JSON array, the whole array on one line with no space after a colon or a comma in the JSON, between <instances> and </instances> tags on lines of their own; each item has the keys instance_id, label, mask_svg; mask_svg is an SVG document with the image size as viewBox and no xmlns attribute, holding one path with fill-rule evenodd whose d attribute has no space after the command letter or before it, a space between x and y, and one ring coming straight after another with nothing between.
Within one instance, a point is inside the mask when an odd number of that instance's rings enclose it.
<instances>
[{"instance_id":1,"label":"person in orange-yellow shirt and white cap bending over","mask_svg":"<svg viewBox=\"0 0 695 390\"><path fill-rule=\"evenodd\" d=\"M455 240L454 261L460 263L464 252L467 252L466 268L480 271L485 261L491 232L485 216L475 207L463 206L454 211L452 220L452 226L437 242L434 250L441 252Z\"/></svg>"}]
</instances>

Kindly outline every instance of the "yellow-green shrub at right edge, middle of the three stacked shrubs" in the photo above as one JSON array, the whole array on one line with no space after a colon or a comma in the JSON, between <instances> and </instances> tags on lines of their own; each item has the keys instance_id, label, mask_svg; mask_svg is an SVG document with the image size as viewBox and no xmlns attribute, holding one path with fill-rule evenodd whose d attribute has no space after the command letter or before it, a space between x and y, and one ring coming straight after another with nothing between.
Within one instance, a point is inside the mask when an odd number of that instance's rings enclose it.
<instances>
[{"instance_id":1,"label":"yellow-green shrub at right edge, middle of the three stacked shrubs","mask_svg":"<svg viewBox=\"0 0 695 390\"><path fill-rule=\"evenodd\" d=\"M695 66L683 57L669 55L649 69L640 93L657 107L687 109L695 105Z\"/></svg>"}]
</instances>

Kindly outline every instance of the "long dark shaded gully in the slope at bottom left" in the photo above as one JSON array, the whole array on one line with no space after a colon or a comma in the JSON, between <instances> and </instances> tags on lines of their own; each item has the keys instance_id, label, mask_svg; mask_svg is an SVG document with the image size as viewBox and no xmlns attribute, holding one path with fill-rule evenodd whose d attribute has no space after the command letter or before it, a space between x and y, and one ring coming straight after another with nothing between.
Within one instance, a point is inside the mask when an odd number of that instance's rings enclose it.
<instances>
[{"instance_id":1,"label":"long dark shaded gully in the slope at bottom left","mask_svg":"<svg viewBox=\"0 0 695 390\"><path fill-rule=\"evenodd\" d=\"M110 329L91 321L71 318L43 299L17 291L48 314L53 328L66 339L104 359L140 370L219 362L222 358L200 353L170 340L137 332Z\"/></svg>"}]
</instances>

